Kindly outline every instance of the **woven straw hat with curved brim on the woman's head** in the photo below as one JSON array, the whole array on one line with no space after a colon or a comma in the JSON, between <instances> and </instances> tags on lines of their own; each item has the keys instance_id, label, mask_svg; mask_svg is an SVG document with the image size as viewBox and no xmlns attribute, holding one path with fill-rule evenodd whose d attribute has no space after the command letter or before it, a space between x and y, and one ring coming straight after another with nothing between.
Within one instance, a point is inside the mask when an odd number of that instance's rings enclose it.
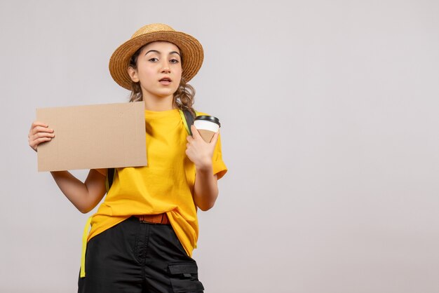
<instances>
[{"instance_id":1,"label":"woven straw hat with curved brim on the woman's head","mask_svg":"<svg viewBox=\"0 0 439 293\"><path fill-rule=\"evenodd\" d=\"M182 77L190 81L203 64L203 46L189 34L176 32L169 25L156 23L145 25L131 36L131 39L117 48L109 61L109 71L119 86L131 90L131 79L128 75L130 57L142 46L153 41L168 41L180 48L182 53Z\"/></svg>"}]
</instances>

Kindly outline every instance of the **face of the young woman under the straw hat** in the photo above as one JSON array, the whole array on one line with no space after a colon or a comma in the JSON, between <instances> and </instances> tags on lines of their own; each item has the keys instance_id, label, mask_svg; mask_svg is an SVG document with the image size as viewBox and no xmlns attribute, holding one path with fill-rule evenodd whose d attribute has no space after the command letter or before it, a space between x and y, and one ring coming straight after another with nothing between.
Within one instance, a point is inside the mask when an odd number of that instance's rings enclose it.
<instances>
[{"instance_id":1,"label":"face of the young woman under the straw hat","mask_svg":"<svg viewBox=\"0 0 439 293\"><path fill-rule=\"evenodd\" d=\"M129 67L128 74L134 82L140 82L144 99L172 99L182 79L180 50L165 41L149 43L137 57L137 68Z\"/></svg>"}]
</instances>

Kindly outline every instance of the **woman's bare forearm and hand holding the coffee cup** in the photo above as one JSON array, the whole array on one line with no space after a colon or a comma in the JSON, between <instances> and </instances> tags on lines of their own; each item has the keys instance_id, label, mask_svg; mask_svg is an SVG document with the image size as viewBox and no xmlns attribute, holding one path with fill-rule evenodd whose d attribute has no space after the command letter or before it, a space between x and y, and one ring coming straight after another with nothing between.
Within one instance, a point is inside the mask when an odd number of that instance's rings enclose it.
<instances>
[{"instance_id":1,"label":"woman's bare forearm and hand holding the coffee cup","mask_svg":"<svg viewBox=\"0 0 439 293\"><path fill-rule=\"evenodd\" d=\"M210 210L218 197L217 175L213 174L212 155L218 140L218 133L207 143L203 140L194 125L191 125L192 136L187 137L186 154L195 164L194 203L201 210Z\"/></svg>"}]
</instances>

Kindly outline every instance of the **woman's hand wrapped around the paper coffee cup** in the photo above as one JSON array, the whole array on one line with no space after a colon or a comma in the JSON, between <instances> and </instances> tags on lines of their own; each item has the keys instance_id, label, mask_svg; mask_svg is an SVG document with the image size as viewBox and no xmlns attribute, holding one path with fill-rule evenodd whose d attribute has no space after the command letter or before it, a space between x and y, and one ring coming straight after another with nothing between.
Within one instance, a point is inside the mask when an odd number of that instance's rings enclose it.
<instances>
[{"instance_id":1,"label":"woman's hand wrapped around the paper coffee cup","mask_svg":"<svg viewBox=\"0 0 439 293\"><path fill-rule=\"evenodd\" d=\"M212 156L217 144L219 132L213 135L210 142L205 142L194 125L191 125L192 136L187 137L186 154L196 170L212 168Z\"/></svg>"}]
</instances>

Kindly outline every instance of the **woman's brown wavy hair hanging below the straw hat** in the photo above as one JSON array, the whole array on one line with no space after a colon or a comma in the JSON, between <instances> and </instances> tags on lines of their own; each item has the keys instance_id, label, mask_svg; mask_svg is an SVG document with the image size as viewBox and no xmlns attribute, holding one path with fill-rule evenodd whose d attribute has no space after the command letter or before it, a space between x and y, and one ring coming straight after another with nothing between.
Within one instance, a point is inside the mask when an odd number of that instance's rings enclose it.
<instances>
[{"instance_id":1,"label":"woman's brown wavy hair hanging below the straw hat","mask_svg":"<svg viewBox=\"0 0 439 293\"><path fill-rule=\"evenodd\" d=\"M144 45L147 46L147 45ZM134 69L137 69L137 57L139 57L140 52L144 48L142 46L139 50L137 50L133 56L130 58L130 64L128 67L133 67ZM180 48L179 48L180 50ZM182 56L183 61L183 56ZM195 97L195 89L189 85L184 78L180 80L180 85L178 86L177 90L175 91L173 95L173 107L184 110L187 109L191 112L192 116L196 116L194 108L192 106L194 105L194 97ZM131 81L131 94L130 94L130 102L140 102L143 101L142 96L142 88L140 88L140 83L135 83L134 81Z\"/></svg>"}]
</instances>

